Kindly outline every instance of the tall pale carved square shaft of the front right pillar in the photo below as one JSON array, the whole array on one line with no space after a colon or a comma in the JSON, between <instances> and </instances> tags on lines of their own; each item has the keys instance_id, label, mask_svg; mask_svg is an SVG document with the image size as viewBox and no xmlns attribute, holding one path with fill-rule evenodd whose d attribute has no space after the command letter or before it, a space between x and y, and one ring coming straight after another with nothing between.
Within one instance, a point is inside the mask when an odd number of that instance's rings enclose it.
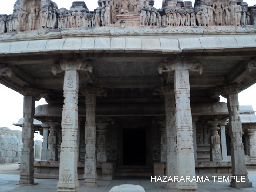
<instances>
[{"instance_id":1,"label":"tall pale carved square shaft of the front right pillar","mask_svg":"<svg viewBox=\"0 0 256 192\"><path fill-rule=\"evenodd\" d=\"M185 67L185 68L184 68ZM189 71L184 63L177 63L174 72L175 124L177 131L177 174L195 176L193 149L192 115L190 109ZM180 182L177 188L182 191L197 190L196 182Z\"/></svg>"}]
</instances>

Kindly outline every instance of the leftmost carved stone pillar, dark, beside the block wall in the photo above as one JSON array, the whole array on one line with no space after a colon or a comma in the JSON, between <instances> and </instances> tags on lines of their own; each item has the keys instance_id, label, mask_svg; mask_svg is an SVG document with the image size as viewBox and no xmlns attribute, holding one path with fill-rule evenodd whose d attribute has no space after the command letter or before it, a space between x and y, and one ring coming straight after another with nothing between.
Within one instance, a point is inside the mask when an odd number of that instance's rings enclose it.
<instances>
[{"instance_id":1,"label":"leftmost carved stone pillar, dark, beside the block wall","mask_svg":"<svg viewBox=\"0 0 256 192\"><path fill-rule=\"evenodd\" d=\"M34 124L35 97L24 96L20 159L20 185L34 185Z\"/></svg>"}]
</instances>

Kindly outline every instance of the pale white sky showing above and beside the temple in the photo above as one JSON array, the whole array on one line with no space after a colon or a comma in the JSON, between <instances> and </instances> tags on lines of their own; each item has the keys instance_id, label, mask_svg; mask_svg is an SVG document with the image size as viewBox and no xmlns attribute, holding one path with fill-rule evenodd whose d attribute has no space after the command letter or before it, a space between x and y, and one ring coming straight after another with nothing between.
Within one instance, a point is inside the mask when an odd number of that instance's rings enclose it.
<instances>
[{"instance_id":1,"label":"pale white sky showing above and beside the temple","mask_svg":"<svg viewBox=\"0 0 256 192\"><path fill-rule=\"evenodd\" d=\"M1 0L0 14L11 14L13 12L13 5L16 0ZM57 3L58 8L65 7L70 8L74 0L53 0ZM249 6L256 4L255 0L244 0ZM97 0L85 0L85 3L89 10L95 9ZM192 1L194 5L194 1ZM161 8L162 0L155 0L154 7ZM250 88L242 91L238 94L240 105L252 105L256 110L256 84ZM223 101L223 100L221 100ZM45 100L40 100L35 103L35 106L40 104L46 104ZM23 117L23 96L4 85L0 84L0 127L8 127L10 129L19 129L17 126L13 126L12 123L18 122Z\"/></svg>"}]
</instances>

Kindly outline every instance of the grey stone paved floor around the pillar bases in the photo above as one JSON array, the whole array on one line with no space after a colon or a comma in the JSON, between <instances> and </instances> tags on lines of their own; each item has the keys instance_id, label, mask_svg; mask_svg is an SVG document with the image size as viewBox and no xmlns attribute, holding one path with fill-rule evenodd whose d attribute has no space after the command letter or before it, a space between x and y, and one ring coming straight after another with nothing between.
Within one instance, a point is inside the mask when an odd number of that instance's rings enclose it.
<instances>
[{"instance_id":1,"label":"grey stone paved floor around the pillar bases","mask_svg":"<svg viewBox=\"0 0 256 192\"><path fill-rule=\"evenodd\" d=\"M37 185L33 186L21 186L16 185L19 182L19 170L18 164L10 165L0 165L0 191L1 192L56 192L57 182L56 179L35 179ZM256 187L256 169L248 170L249 180L252 185ZM152 182L150 178L139 177L118 177L114 178L112 181L98 181L98 188L88 188L83 187L83 181L80 180L79 192L108 192L113 186L121 184L134 184L141 185L146 192L174 192L176 190L166 190L164 189L164 184L160 182ZM200 192L233 192L233 191L247 191L256 192L256 188L243 188L236 189L229 187L229 183L217 183L213 180L210 182L198 182L198 191Z\"/></svg>"}]
</instances>

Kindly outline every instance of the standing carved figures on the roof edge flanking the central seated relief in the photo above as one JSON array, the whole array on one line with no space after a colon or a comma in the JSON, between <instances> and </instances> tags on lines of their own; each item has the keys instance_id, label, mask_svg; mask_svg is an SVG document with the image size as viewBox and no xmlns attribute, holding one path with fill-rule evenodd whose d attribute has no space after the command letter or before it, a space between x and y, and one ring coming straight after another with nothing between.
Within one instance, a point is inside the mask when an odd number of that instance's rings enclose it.
<instances>
[{"instance_id":1,"label":"standing carved figures on the roof edge flanking the central seated relief","mask_svg":"<svg viewBox=\"0 0 256 192\"><path fill-rule=\"evenodd\" d=\"M36 4L27 9L26 5L14 13L0 15L0 33L12 31L35 30L39 28L81 28L110 26L117 21L116 14L129 14L127 0L121 5L115 1L105 1L94 12L75 10L58 11L43 8ZM250 13L247 7L240 5L223 6L218 0L212 5L201 5L195 8L166 8L160 15L156 8L149 5L149 0L135 1L134 14L140 17L140 25L156 26L211 26L211 25L249 25ZM113 12L115 10L115 14ZM41 10L41 11L40 11ZM36 26L39 23L39 26Z\"/></svg>"}]
</instances>

